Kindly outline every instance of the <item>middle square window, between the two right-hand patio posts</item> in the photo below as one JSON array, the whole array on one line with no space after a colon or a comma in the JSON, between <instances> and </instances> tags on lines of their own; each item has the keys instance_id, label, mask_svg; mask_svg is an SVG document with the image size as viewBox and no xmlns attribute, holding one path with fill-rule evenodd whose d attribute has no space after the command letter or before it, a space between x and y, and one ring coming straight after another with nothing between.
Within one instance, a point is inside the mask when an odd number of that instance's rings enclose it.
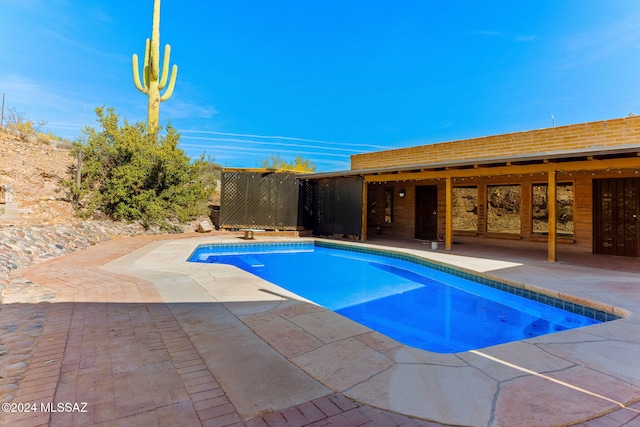
<instances>
[{"instance_id":1,"label":"middle square window, between the two right-hand patio posts","mask_svg":"<svg viewBox=\"0 0 640 427\"><path fill-rule=\"evenodd\" d=\"M520 234L520 185L487 186L487 231Z\"/></svg>"}]
</instances>

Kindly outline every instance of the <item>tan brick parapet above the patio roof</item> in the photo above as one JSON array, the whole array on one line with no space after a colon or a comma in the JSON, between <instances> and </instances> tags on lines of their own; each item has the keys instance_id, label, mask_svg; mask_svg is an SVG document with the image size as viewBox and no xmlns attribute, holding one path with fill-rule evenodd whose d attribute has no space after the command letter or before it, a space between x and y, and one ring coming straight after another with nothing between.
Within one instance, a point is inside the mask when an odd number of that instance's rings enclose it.
<instances>
[{"instance_id":1,"label":"tan brick parapet above the patio roof","mask_svg":"<svg viewBox=\"0 0 640 427\"><path fill-rule=\"evenodd\" d=\"M640 144L640 116L493 135L351 156L351 169L500 158Z\"/></svg>"}]
</instances>

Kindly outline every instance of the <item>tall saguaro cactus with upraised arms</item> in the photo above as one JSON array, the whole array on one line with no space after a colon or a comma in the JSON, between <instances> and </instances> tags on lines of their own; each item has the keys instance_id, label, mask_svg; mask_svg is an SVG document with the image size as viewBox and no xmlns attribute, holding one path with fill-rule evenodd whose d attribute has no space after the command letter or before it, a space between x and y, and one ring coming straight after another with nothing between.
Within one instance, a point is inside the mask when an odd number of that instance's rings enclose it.
<instances>
[{"instance_id":1,"label":"tall saguaro cactus with upraised arms","mask_svg":"<svg viewBox=\"0 0 640 427\"><path fill-rule=\"evenodd\" d=\"M171 57L171 46L164 47L164 61L162 64L162 74L160 74L160 0L153 3L153 24L151 27L151 40L147 39L144 50L144 64L142 69L142 83L138 74L138 55L132 57L133 83L136 88L149 97L149 108L147 111L147 126L149 133L158 131L160 121L160 103L171 98L178 76L178 66L174 64L169 79L169 58ZM164 94L160 91L169 86Z\"/></svg>"}]
</instances>

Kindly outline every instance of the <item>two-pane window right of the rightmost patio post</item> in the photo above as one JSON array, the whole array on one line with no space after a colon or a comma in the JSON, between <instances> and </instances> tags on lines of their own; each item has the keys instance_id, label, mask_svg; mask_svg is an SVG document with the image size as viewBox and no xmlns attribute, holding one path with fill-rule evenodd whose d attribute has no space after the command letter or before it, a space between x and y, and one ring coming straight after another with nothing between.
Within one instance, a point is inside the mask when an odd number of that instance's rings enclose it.
<instances>
[{"instance_id":1,"label":"two-pane window right of the rightmost patio post","mask_svg":"<svg viewBox=\"0 0 640 427\"><path fill-rule=\"evenodd\" d=\"M532 197L532 231L536 234L549 232L549 209L547 200L549 186L534 184ZM573 183L559 183L556 186L556 230L558 234L573 235Z\"/></svg>"}]
</instances>

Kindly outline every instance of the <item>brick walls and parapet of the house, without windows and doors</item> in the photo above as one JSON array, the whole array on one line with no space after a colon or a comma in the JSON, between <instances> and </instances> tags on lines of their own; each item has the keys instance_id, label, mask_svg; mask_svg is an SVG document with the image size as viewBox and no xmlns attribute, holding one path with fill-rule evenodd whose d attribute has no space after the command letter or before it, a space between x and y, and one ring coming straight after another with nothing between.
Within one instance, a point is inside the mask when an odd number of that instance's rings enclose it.
<instances>
[{"instance_id":1,"label":"brick walls and parapet of the house, without windows and doors","mask_svg":"<svg viewBox=\"0 0 640 427\"><path fill-rule=\"evenodd\" d=\"M376 205L380 206L376 215L369 215L369 222L381 225L381 233L404 237L416 237L416 187L421 185L436 185L438 188L437 233L445 235L446 221L446 179L449 177L452 186L477 187L477 229L473 231L459 231L454 228L454 241L482 242L484 238L492 238L492 243L503 242L509 246L547 246L547 235L536 233L533 229L533 186L546 185L549 182L550 171L555 170L558 184L571 183L573 186L573 234L557 235L558 251L592 252L594 250L594 206L593 180L606 178L639 178L640 153L631 155L621 167L603 167L594 170L597 163L588 160L571 160L571 167L563 170L562 162L540 166L530 164L519 167L518 158L558 155L562 153L583 153L586 159L589 152L603 151L615 147L638 146L640 144L640 116L630 116L621 119L604 120L599 122L582 123L570 126L560 126L548 129L494 135L460 141L444 142L395 150L386 150L351 156L353 171L367 169L384 169L382 174L371 173L369 176L369 191L376 198ZM635 150L635 147L634 147ZM498 173L494 169L482 165L481 160L499 159L508 166ZM438 171L420 173L419 165L429 165L441 162L479 160L476 169L460 171L456 177L456 170L440 169ZM516 164L510 166L510 161ZM584 162L582 169L580 163ZM526 164L526 162L524 163ZM400 173L388 172L393 167L418 166L417 171ZM477 170L477 176L473 176ZM505 172L506 170L506 172ZM521 173L520 171L526 171ZM513 173L511 173L513 172ZM415 179L413 179L415 177ZM427 178L428 177L428 178ZM431 179L433 177L433 179ZM386 181L386 182L379 182ZM520 186L520 229L519 232L497 233L487 228L489 214L487 212L487 189L492 185ZM383 219L384 189L394 189L393 222L385 224ZM398 193L403 189L406 193L400 198ZM495 207L492 208L495 211ZM382 215L382 216L381 216ZM495 220L495 214L494 214ZM369 233L375 233L376 224L368 224ZM640 245L640 243L639 243Z\"/></svg>"}]
</instances>

